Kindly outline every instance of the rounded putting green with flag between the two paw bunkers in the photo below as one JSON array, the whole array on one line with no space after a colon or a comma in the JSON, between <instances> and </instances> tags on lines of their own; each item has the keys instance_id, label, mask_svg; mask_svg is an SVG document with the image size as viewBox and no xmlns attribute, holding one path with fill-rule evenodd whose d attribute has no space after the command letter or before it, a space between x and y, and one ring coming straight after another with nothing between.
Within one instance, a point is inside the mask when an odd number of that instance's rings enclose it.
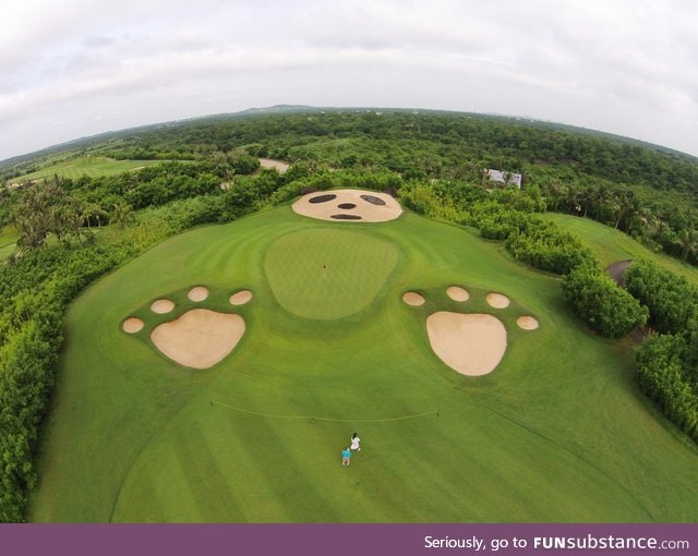
<instances>
[{"instance_id":1,"label":"rounded putting green with flag between the two paw bunkers","mask_svg":"<svg viewBox=\"0 0 698 556\"><path fill-rule=\"evenodd\" d=\"M289 313L328 321L365 309L398 261L395 244L366 233L316 228L275 241L264 268Z\"/></svg>"}]
</instances>

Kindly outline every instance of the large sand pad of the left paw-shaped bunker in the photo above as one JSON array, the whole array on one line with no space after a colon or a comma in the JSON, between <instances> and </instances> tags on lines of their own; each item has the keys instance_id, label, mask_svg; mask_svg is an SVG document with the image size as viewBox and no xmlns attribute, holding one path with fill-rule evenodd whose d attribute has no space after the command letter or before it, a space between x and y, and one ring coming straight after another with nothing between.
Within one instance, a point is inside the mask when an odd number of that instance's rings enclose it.
<instances>
[{"instance_id":1,"label":"large sand pad of the left paw-shaped bunker","mask_svg":"<svg viewBox=\"0 0 698 556\"><path fill-rule=\"evenodd\" d=\"M151 333L153 343L180 365L208 368L228 355L244 334L240 315L192 309Z\"/></svg>"}]
</instances>

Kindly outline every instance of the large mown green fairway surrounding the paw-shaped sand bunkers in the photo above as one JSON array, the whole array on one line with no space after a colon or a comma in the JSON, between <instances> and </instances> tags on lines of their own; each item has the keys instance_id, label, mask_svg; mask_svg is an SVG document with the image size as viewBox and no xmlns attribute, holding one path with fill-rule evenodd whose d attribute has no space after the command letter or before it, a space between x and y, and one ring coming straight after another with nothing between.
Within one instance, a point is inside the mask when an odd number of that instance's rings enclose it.
<instances>
[{"instance_id":1,"label":"large mown green fairway surrounding the paw-shaped sand bunkers","mask_svg":"<svg viewBox=\"0 0 698 556\"><path fill-rule=\"evenodd\" d=\"M284 267L301 297L309 281L341 285L335 262L327 278L318 261L303 262L325 233L337 264L356 266L342 270L346 288L361 293L356 280L369 276L368 302L340 312L328 292L327 313L304 318L275 289ZM351 255L359 245L365 258ZM186 299L196 285L210 289L205 302ZM450 300L452 285L470 300ZM231 307L241 288L254 298ZM406 305L407 290L426 303ZM489 307L490 291L512 305ZM160 297L177 303L172 315L148 311ZM232 354L206 371L177 365L148 339L192 306L246 323ZM500 366L478 378L445 366L425 333L436 311L501 318ZM517 328L522 314L540 328ZM131 315L146 322L134 336L120 329ZM558 280L455 226L413 214L324 223L279 207L200 228L85 291L65 337L34 521L698 520L698 449L638 391L630 346L583 329ZM344 468L354 431L362 451Z\"/></svg>"}]
</instances>

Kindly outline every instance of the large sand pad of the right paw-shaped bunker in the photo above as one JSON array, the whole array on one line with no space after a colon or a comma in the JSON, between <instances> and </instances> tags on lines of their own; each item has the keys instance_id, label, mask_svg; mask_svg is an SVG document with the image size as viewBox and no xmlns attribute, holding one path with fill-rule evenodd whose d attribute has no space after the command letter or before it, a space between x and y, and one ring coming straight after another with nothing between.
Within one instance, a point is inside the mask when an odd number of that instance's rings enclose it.
<instances>
[{"instance_id":1,"label":"large sand pad of the right paw-shaped bunker","mask_svg":"<svg viewBox=\"0 0 698 556\"><path fill-rule=\"evenodd\" d=\"M441 311L426 318L426 333L436 355L464 375L491 373L506 351L506 329L492 315Z\"/></svg>"}]
</instances>

